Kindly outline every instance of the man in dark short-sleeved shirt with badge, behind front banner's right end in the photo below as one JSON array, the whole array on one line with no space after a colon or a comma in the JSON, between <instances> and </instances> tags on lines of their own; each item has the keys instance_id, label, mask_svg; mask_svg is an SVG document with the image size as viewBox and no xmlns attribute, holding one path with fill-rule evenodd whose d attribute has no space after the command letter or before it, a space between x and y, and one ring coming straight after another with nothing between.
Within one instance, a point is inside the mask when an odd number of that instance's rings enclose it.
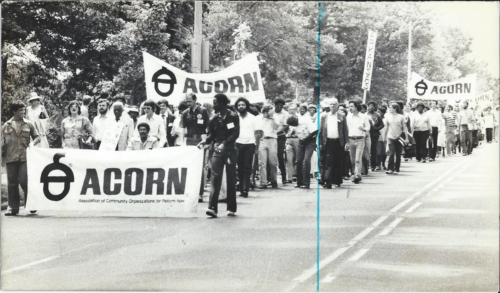
<instances>
[{"instance_id":1,"label":"man in dark short-sleeved shirt with badge, behind front banner's right end","mask_svg":"<svg viewBox=\"0 0 500 293\"><path fill-rule=\"evenodd\" d=\"M196 95L192 92L187 93L184 100L187 103L188 108L182 112L180 127L186 129L184 134L184 137L186 138L186 145L198 145L199 142L206 136L206 127L208 127L209 120L208 111L196 104ZM206 152L203 153L203 162L205 161L205 156ZM204 169L205 166L203 165L199 186L198 203L203 202Z\"/></svg>"}]
</instances>

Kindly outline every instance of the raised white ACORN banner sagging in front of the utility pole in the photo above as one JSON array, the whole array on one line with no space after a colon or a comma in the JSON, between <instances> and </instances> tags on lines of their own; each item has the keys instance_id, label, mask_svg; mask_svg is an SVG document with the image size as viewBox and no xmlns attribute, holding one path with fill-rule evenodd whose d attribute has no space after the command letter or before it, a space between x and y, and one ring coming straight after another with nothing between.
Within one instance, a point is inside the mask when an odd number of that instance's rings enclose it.
<instances>
[{"instance_id":1,"label":"raised white ACORN banner sagging in front of the utility pole","mask_svg":"<svg viewBox=\"0 0 500 293\"><path fill-rule=\"evenodd\" d=\"M245 97L250 103L265 101L257 54L251 53L229 67L211 73L188 73L143 52L146 95L178 104L186 93L196 94L199 103L211 102L216 93L231 101Z\"/></svg>"}]
</instances>

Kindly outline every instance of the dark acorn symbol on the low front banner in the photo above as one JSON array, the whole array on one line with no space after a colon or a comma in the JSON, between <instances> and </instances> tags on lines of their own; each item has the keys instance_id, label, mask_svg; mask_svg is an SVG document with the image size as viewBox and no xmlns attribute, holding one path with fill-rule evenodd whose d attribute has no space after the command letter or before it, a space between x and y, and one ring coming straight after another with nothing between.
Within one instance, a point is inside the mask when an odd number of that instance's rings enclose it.
<instances>
[{"instance_id":1,"label":"dark acorn symbol on the low front banner","mask_svg":"<svg viewBox=\"0 0 500 293\"><path fill-rule=\"evenodd\" d=\"M59 159L62 157L65 157L66 153L56 153L53 158L53 163L48 164L43 168L41 171L40 175L40 183L43 183L43 194L48 200L57 202L63 199L69 192L69 185L71 182L74 182L74 175L73 171L71 169L62 164L59 163ZM65 176L48 176L50 172L55 171L55 170L60 170L64 173ZM49 183L64 183L64 189L60 194L52 194L50 190L48 189L48 184Z\"/></svg>"}]
</instances>

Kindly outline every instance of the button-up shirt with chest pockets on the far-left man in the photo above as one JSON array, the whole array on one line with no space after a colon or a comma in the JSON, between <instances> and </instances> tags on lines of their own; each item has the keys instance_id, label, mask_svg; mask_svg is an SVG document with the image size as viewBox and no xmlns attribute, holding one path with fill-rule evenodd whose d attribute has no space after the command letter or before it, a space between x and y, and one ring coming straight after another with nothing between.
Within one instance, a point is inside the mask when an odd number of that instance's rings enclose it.
<instances>
[{"instance_id":1,"label":"button-up shirt with chest pockets on the far-left man","mask_svg":"<svg viewBox=\"0 0 500 293\"><path fill-rule=\"evenodd\" d=\"M38 136L38 132L34 124L25 118L22 118L20 130L19 133L14 130L12 118L1 127L3 163L26 161L26 148L29 145L29 137L35 139Z\"/></svg>"}]
</instances>

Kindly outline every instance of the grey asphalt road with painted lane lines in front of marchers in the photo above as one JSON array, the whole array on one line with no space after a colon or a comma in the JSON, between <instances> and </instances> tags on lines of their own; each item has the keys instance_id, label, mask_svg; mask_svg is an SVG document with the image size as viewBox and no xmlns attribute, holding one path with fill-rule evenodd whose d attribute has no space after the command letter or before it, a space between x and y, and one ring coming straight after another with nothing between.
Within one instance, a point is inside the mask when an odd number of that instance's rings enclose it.
<instances>
[{"instance_id":1,"label":"grey asphalt road with painted lane lines in front of marchers","mask_svg":"<svg viewBox=\"0 0 500 293\"><path fill-rule=\"evenodd\" d=\"M2 213L1 290L497 292L498 153L321 188L319 249L317 190L290 184L238 197L233 218Z\"/></svg>"}]
</instances>

